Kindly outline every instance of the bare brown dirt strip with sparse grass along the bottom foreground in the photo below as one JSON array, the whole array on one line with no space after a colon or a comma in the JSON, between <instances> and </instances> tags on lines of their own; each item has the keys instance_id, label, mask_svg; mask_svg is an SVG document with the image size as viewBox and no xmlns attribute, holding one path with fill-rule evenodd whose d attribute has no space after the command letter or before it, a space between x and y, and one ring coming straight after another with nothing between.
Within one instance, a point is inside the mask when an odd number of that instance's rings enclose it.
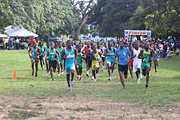
<instances>
[{"instance_id":1,"label":"bare brown dirt strip with sparse grass along the bottom foreground","mask_svg":"<svg viewBox=\"0 0 180 120\"><path fill-rule=\"evenodd\" d=\"M119 120L119 119L179 119L180 104L168 111L138 108L133 104L110 100L66 98L26 98L0 96L0 119L33 120Z\"/></svg>"}]
</instances>

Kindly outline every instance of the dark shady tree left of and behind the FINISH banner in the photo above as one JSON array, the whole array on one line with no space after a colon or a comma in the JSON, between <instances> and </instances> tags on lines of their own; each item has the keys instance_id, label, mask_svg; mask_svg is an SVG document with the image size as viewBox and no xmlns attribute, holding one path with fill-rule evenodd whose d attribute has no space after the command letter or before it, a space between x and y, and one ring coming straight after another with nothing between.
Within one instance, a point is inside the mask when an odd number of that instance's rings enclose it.
<instances>
[{"instance_id":1,"label":"dark shady tree left of and behind the FINISH banner","mask_svg":"<svg viewBox=\"0 0 180 120\"><path fill-rule=\"evenodd\" d=\"M129 28L130 18L139 0L98 0L92 18L99 24L102 36L121 37Z\"/></svg>"}]
</instances>

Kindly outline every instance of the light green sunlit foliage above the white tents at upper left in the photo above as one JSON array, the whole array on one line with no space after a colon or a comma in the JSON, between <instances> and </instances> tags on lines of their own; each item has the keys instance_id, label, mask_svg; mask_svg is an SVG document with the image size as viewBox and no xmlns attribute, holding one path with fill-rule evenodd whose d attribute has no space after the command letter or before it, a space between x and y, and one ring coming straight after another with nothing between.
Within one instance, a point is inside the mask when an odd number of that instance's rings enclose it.
<instances>
[{"instance_id":1,"label":"light green sunlit foliage above the white tents at upper left","mask_svg":"<svg viewBox=\"0 0 180 120\"><path fill-rule=\"evenodd\" d=\"M73 9L71 0L0 0L0 29L19 25L40 35L70 34Z\"/></svg>"}]
</instances>

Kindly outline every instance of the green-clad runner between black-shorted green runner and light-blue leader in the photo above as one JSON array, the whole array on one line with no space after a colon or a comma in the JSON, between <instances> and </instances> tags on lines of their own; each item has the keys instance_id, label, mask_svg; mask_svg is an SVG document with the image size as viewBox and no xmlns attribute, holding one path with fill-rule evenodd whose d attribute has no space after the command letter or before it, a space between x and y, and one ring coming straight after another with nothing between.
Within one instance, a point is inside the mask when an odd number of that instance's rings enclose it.
<instances>
[{"instance_id":1,"label":"green-clad runner between black-shorted green runner and light-blue leader","mask_svg":"<svg viewBox=\"0 0 180 120\"><path fill-rule=\"evenodd\" d=\"M62 56L62 51L63 51L63 47L62 44L59 43L58 45L59 47L57 48L57 51L59 52L59 58L58 58L58 77L60 76L60 68L61 68L61 74L63 74L63 64L64 64L64 60L61 59Z\"/></svg>"}]
</instances>

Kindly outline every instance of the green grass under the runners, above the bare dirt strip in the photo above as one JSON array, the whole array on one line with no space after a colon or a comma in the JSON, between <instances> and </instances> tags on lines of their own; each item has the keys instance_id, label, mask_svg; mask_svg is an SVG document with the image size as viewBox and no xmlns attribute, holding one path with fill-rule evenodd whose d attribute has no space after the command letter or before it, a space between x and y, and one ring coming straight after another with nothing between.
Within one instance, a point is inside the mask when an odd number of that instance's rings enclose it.
<instances>
[{"instance_id":1,"label":"green grass under the runners, above the bare dirt strip","mask_svg":"<svg viewBox=\"0 0 180 120\"><path fill-rule=\"evenodd\" d=\"M150 107L168 107L171 102L180 101L180 57L174 56L173 60L161 60L158 72L154 68L150 72L149 88L145 89L145 77L141 84L136 83L130 77L125 80L127 91L123 91L120 83L117 66L112 77L108 81L107 70L100 71L98 81L95 83L85 77L83 71L82 81L77 81L75 76L75 88L67 92L66 75L52 82L51 77L45 77L46 71L42 71L39 65L38 77L31 76L31 62L27 50L0 51L0 95L33 96L38 98L80 97L105 98L114 101L125 101L136 105ZM45 66L44 66L45 68ZM16 69L17 80L13 80L13 72Z\"/></svg>"}]
</instances>

